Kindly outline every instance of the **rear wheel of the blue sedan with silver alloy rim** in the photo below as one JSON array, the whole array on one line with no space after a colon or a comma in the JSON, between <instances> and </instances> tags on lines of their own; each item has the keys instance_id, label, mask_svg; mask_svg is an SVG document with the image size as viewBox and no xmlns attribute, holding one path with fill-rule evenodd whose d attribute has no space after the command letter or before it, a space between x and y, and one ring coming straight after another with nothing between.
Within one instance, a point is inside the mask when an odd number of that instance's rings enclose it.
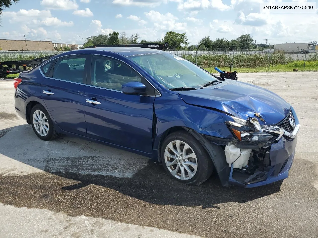
<instances>
[{"instance_id":1,"label":"rear wheel of the blue sedan with silver alloy rim","mask_svg":"<svg viewBox=\"0 0 318 238\"><path fill-rule=\"evenodd\" d=\"M50 141L61 135L56 132L51 117L41 104L36 104L31 109L30 121L35 135L41 140Z\"/></svg>"}]
</instances>

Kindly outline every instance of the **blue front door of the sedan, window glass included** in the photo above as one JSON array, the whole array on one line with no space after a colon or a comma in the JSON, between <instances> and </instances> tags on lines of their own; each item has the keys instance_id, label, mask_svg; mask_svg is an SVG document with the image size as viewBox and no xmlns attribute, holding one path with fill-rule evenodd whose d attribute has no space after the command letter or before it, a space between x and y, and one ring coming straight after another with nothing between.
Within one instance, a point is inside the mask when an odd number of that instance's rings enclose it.
<instances>
[{"instance_id":1,"label":"blue front door of the sedan, window glass included","mask_svg":"<svg viewBox=\"0 0 318 238\"><path fill-rule=\"evenodd\" d=\"M126 95L121 86L141 82L146 92L154 88L125 63L103 56L92 57L91 85L85 87L87 136L150 153L154 96Z\"/></svg>"}]
</instances>

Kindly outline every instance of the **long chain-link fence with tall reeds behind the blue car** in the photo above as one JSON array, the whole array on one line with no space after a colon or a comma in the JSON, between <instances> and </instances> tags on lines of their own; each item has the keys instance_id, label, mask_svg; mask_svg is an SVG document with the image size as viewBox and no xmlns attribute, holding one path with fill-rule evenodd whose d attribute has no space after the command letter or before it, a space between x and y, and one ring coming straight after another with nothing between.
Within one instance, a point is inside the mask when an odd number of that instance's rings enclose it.
<instances>
[{"instance_id":1,"label":"long chain-link fence with tall reeds behind the blue car","mask_svg":"<svg viewBox=\"0 0 318 238\"><path fill-rule=\"evenodd\" d=\"M315 51L315 52L314 52ZM317 52L316 52L317 51ZM54 55L65 51L21 51L1 50L0 61L19 61ZM276 65L286 65L294 62L318 61L318 50L310 53L286 54L274 50L167 50L167 52L181 56L202 68L258 68ZM304 63L305 63L304 62Z\"/></svg>"}]
</instances>

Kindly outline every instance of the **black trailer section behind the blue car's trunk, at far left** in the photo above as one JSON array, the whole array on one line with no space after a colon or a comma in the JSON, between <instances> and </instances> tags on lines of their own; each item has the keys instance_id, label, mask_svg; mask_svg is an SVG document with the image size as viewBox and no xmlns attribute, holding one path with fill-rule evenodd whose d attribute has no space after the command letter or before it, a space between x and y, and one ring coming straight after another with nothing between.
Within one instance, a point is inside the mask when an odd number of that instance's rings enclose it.
<instances>
[{"instance_id":1,"label":"black trailer section behind the blue car's trunk, at far left","mask_svg":"<svg viewBox=\"0 0 318 238\"><path fill-rule=\"evenodd\" d=\"M34 68L35 66L51 58L52 56L55 55L44 56L41 58L35 58L31 60L0 62L0 77L3 78L9 74L17 74L24 70L29 70L26 67Z\"/></svg>"}]
</instances>

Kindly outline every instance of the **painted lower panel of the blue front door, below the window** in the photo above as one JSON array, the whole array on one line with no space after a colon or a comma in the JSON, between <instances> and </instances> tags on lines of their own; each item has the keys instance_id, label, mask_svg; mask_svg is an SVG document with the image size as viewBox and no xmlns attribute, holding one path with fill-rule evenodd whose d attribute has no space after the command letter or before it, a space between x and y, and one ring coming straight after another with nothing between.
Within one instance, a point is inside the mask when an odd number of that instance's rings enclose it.
<instances>
[{"instance_id":1,"label":"painted lower panel of the blue front door, below the window","mask_svg":"<svg viewBox=\"0 0 318 238\"><path fill-rule=\"evenodd\" d=\"M85 102L88 137L151 152L155 97L125 95L86 85L85 99L100 102Z\"/></svg>"}]
</instances>

